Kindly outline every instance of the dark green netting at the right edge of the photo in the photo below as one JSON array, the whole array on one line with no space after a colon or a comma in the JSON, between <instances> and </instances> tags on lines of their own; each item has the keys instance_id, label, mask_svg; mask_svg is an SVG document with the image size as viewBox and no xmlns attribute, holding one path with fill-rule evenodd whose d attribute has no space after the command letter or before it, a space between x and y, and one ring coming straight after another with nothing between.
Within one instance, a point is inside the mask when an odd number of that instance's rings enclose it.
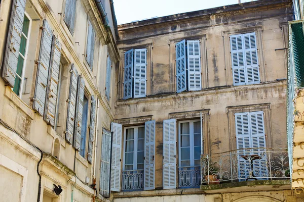
<instances>
[{"instance_id":1,"label":"dark green netting at the right edge of the photo","mask_svg":"<svg viewBox=\"0 0 304 202\"><path fill-rule=\"evenodd\" d=\"M291 24L292 54L298 88L304 87L304 35L302 23Z\"/></svg>"}]
</instances>

